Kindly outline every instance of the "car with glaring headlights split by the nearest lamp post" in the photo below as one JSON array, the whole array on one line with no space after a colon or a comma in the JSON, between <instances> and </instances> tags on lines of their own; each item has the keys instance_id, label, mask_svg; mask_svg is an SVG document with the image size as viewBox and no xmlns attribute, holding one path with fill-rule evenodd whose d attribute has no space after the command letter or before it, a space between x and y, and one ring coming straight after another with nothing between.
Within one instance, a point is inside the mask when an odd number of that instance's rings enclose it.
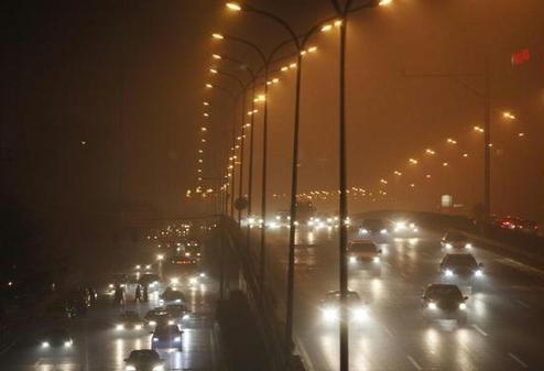
<instances>
[{"instance_id":1,"label":"car with glaring headlights split by the nearest lamp post","mask_svg":"<svg viewBox=\"0 0 544 371\"><path fill-rule=\"evenodd\" d=\"M337 323L340 319L340 291L329 291L320 301L319 308L325 323ZM368 318L367 304L355 291L348 290L348 310L350 321L363 321Z\"/></svg>"}]
</instances>

